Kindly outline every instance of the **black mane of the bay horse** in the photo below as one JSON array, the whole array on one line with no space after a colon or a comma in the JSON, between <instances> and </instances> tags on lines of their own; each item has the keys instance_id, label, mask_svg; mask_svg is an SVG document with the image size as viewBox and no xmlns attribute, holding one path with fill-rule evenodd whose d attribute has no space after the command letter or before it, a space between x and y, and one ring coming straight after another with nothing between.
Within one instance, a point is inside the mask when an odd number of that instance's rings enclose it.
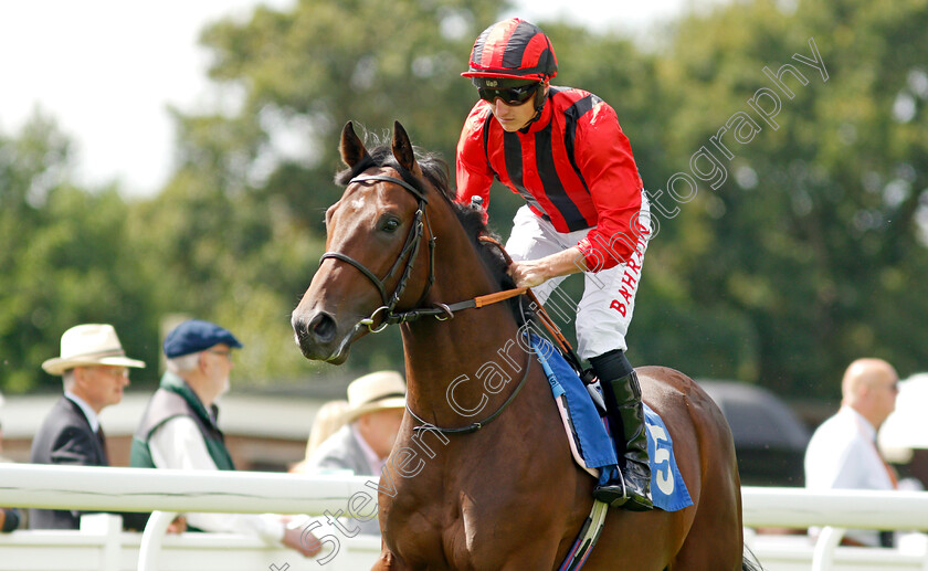
<instances>
[{"instance_id":1,"label":"black mane of the bay horse","mask_svg":"<svg viewBox=\"0 0 928 571\"><path fill-rule=\"evenodd\" d=\"M415 151L415 161L419 163L419 168L422 169L423 177L439 191L439 194L441 194L441 197L454 211L458 222L461 222L461 225L464 228L464 232L467 234L467 237L471 239L471 244L479 254L481 260L489 271L494 282L499 285L500 289L512 289L516 287L513 278L506 273L508 264L506 263L506 260L499 249L492 243L479 240L481 236L491 236L497 242L499 241L499 236L491 231L484 222L483 210L460 204L454 201L455 197L449 184L450 175L447 162L445 162L445 160L436 152L429 152L420 147L413 147L413 150ZM347 186L351 179L371 167L390 167L397 170L397 172L402 176L403 180L415 188L424 190L422 189L422 181L418 180L411 172L400 166L393 157L393 151L390 148L390 145L378 145L368 150L368 154L370 156L368 160L361 160L354 167L336 173L335 182L344 187ZM523 310L519 307L518 297L509 299L508 304L513 311L513 316L516 318L516 322L523 325L525 322L525 317L523 316Z\"/></svg>"}]
</instances>

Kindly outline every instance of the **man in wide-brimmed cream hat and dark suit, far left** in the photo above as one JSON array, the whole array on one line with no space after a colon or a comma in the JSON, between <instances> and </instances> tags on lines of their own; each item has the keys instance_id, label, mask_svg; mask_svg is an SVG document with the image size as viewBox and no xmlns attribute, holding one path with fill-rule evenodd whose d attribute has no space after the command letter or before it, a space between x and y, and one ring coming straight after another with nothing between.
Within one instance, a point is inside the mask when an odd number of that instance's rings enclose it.
<instances>
[{"instance_id":1,"label":"man in wide-brimmed cream hat and dark suit, far left","mask_svg":"<svg viewBox=\"0 0 928 571\"><path fill-rule=\"evenodd\" d=\"M126 357L112 325L87 324L61 336L61 357L42 369L62 377L64 395L45 416L32 441L33 464L109 466L98 415L118 404L129 384L129 368L145 363ZM30 509L31 529L78 529L81 511ZM143 529L148 514L120 514L123 525Z\"/></svg>"}]
</instances>

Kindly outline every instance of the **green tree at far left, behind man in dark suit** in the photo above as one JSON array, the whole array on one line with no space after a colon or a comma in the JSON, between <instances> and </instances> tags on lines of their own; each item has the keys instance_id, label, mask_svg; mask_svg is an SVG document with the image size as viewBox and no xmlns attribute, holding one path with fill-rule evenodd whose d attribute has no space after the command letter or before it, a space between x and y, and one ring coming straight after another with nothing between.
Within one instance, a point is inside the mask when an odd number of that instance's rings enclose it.
<instances>
[{"instance_id":1,"label":"green tree at far left, behind man in dark suit","mask_svg":"<svg viewBox=\"0 0 928 571\"><path fill-rule=\"evenodd\" d=\"M68 182L70 147L41 114L19 136L0 137L0 378L10 392L57 388L40 366L82 322L113 324L127 353L157 361L149 284L136 279L126 240L128 207L114 188Z\"/></svg>"}]
</instances>

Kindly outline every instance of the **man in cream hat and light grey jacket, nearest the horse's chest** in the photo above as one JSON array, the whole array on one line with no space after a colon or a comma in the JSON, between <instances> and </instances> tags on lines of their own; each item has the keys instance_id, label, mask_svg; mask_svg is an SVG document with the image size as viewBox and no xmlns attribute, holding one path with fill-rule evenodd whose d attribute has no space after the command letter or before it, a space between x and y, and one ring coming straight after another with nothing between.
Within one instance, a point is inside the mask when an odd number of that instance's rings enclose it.
<instances>
[{"instance_id":1,"label":"man in cream hat and light grey jacket, nearest the horse's chest","mask_svg":"<svg viewBox=\"0 0 928 571\"><path fill-rule=\"evenodd\" d=\"M348 385L344 426L316 448L306 468L379 476L400 432L404 409L405 383L400 373L380 371L356 379ZM361 533L380 533L377 518L357 524Z\"/></svg>"}]
</instances>

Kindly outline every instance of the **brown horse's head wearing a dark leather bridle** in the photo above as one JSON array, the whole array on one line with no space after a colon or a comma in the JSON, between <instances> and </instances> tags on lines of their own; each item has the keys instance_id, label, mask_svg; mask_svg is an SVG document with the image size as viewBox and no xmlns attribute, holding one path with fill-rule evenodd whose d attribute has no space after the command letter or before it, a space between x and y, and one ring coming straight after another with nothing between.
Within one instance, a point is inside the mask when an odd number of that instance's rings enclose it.
<instances>
[{"instance_id":1,"label":"brown horse's head wearing a dark leather bridle","mask_svg":"<svg viewBox=\"0 0 928 571\"><path fill-rule=\"evenodd\" d=\"M421 300L434 273L430 249L420 247L431 237L423 234L432 177L402 125L389 149L369 154L349 121L339 149L348 169L336 180L347 187L326 211L326 253L291 320L303 355L335 364L396 308Z\"/></svg>"}]
</instances>

